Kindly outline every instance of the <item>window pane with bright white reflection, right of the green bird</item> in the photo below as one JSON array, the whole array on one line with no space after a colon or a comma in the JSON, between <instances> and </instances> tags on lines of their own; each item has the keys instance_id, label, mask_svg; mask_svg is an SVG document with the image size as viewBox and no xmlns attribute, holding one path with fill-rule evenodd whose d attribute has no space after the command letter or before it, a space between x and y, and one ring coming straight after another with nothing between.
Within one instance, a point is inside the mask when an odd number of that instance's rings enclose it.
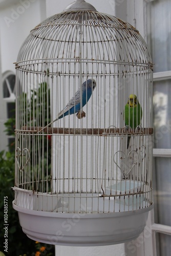
<instances>
[{"instance_id":1,"label":"window pane with bright white reflection, right of the green bird","mask_svg":"<svg viewBox=\"0 0 171 256\"><path fill-rule=\"evenodd\" d=\"M154 82L154 147L171 148L171 80Z\"/></svg>"}]
</instances>

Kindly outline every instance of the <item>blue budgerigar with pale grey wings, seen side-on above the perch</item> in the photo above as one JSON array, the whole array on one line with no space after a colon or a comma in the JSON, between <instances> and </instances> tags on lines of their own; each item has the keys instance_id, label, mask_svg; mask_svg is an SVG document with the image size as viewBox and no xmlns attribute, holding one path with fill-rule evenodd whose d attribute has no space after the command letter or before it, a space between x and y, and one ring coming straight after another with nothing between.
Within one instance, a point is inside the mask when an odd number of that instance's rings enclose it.
<instances>
[{"instance_id":1,"label":"blue budgerigar with pale grey wings, seen side-on above the perch","mask_svg":"<svg viewBox=\"0 0 171 256\"><path fill-rule=\"evenodd\" d=\"M65 116L78 113L80 109L83 108L83 106L86 105L87 102L89 101L95 87L96 87L96 81L94 79L88 79L84 81L81 86L82 92L80 92L81 91L80 88L78 89L78 91L76 91L75 95L70 99L65 109L61 110L58 113L54 121ZM82 98L80 97L81 93L82 93Z\"/></svg>"}]
</instances>

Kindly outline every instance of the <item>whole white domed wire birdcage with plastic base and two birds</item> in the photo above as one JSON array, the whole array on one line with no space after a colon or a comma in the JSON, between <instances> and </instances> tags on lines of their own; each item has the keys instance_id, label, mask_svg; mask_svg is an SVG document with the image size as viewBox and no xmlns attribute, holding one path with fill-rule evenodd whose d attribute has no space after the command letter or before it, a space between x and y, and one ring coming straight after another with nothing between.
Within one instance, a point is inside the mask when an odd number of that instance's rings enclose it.
<instances>
[{"instance_id":1,"label":"whole white domed wire birdcage with plastic base and two birds","mask_svg":"<svg viewBox=\"0 0 171 256\"><path fill-rule=\"evenodd\" d=\"M139 32L77 0L30 32L15 66L24 232L59 245L138 237L153 208L153 70Z\"/></svg>"}]
</instances>

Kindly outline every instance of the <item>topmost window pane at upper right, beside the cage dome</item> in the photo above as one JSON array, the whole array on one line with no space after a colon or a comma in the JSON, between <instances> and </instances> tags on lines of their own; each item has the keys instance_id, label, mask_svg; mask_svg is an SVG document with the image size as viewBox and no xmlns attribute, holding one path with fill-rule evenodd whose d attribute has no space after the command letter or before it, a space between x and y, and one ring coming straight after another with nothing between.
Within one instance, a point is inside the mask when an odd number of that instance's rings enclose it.
<instances>
[{"instance_id":1,"label":"topmost window pane at upper right, beside the cage dome","mask_svg":"<svg viewBox=\"0 0 171 256\"><path fill-rule=\"evenodd\" d=\"M154 72L171 70L171 1L147 4L147 41L155 63Z\"/></svg>"}]
</instances>

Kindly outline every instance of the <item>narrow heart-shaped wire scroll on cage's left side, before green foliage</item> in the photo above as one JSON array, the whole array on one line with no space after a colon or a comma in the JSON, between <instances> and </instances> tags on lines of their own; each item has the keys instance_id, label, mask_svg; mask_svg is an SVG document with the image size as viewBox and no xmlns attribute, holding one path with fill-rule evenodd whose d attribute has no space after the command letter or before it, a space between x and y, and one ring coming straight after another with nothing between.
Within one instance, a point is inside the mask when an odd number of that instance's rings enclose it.
<instances>
[{"instance_id":1,"label":"narrow heart-shaped wire scroll on cage's left side, before green foliage","mask_svg":"<svg viewBox=\"0 0 171 256\"><path fill-rule=\"evenodd\" d=\"M18 168L20 172L22 172L29 162L30 159L30 153L28 148L24 148L23 151L20 150L19 147L16 148L16 162L18 164Z\"/></svg>"}]
</instances>

